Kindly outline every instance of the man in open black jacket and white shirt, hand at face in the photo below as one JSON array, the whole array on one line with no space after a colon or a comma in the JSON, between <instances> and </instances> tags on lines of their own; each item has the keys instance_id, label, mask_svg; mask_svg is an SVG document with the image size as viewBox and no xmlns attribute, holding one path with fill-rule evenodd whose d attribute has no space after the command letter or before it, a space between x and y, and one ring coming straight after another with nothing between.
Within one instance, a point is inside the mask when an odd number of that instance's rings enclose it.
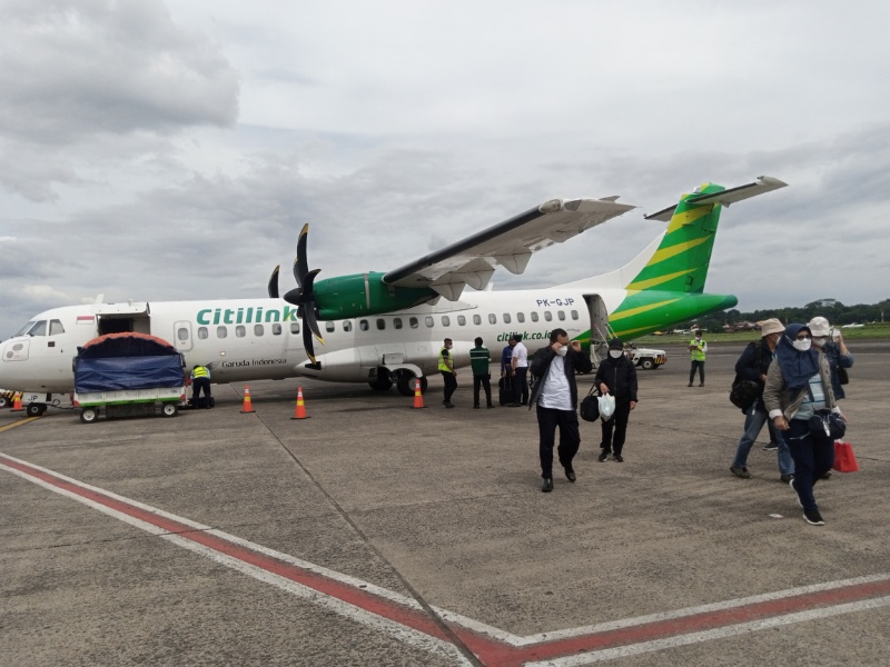
<instances>
[{"instance_id":1,"label":"man in open black jacket and white shirt, hand at face","mask_svg":"<svg viewBox=\"0 0 890 667\"><path fill-rule=\"evenodd\" d=\"M537 430L540 435L538 456L541 458L541 477L544 479L541 490L548 494L553 490L553 445L556 439L556 427L560 427L560 446L556 452L565 470L568 481L575 481L572 459L581 445L581 431L577 427L577 385L575 371L590 372L593 365L587 355L581 351L577 340L568 342L565 329L554 329L550 335L550 346L542 348L532 362L535 378L528 409L537 404Z\"/></svg>"}]
</instances>

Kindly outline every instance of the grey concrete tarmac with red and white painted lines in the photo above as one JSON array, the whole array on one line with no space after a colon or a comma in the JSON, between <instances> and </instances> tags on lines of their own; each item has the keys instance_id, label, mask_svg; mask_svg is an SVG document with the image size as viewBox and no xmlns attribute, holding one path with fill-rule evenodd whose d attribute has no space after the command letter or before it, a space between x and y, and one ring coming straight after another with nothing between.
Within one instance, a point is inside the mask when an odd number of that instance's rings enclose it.
<instances>
[{"instance_id":1,"label":"grey concrete tarmac with red and white painted lines","mask_svg":"<svg viewBox=\"0 0 890 667\"><path fill-rule=\"evenodd\" d=\"M287 380L248 414L229 385L175 418L2 410L0 665L890 665L890 341L852 349L860 471L815 487L821 527L765 428L729 471L743 344L691 388L656 347L625 462L582 421L552 494L534 412L472 409L468 369L453 410L439 378L424 409Z\"/></svg>"}]
</instances>

